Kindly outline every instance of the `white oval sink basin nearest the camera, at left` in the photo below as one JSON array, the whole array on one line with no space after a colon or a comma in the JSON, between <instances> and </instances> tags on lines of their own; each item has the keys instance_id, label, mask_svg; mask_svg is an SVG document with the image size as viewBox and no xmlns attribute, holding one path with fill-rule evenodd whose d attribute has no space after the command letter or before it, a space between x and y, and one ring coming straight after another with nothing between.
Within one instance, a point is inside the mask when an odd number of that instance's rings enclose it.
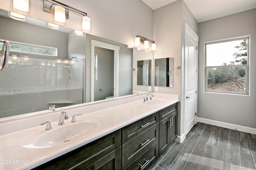
<instances>
[{"instance_id":1,"label":"white oval sink basin nearest the camera, at left","mask_svg":"<svg viewBox=\"0 0 256 170\"><path fill-rule=\"evenodd\" d=\"M26 148L44 148L63 145L89 135L102 124L99 119L95 118L82 118L77 120L79 121L75 123L65 123L64 125L52 127L52 129L48 131L42 131L42 129L34 131L26 135L20 141L20 145Z\"/></svg>"}]
</instances>

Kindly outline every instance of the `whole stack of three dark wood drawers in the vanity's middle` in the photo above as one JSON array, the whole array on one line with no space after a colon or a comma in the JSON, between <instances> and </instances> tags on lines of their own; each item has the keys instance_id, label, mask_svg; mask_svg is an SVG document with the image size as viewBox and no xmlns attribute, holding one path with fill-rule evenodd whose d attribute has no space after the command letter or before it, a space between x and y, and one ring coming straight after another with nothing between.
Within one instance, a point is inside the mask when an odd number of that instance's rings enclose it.
<instances>
[{"instance_id":1,"label":"whole stack of three dark wood drawers in the vanity's middle","mask_svg":"<svg viewBox=\"0 0 256 170\"><path fill-rule=\"evenodd\" d=\"M126 169L128 166L133 167L130 164L133 164L132 162L134 161L141 162L142 168L146 169L148 164L152 162L153 157L158 158L158 153L154 154L156 149L152 150L152 153L148 151L148 149L156 143L158 147L158 120L159 113L156 112L122 128L122 170ZM144 154L146 151L148 154ZM150 157L148 157L148 155L150 155ZM140 160L137 160L139 157ZM144 162L144 160L147 161ZM136 166L138 166L138 164L136 164Z\"/></svg>"}]
</instances>

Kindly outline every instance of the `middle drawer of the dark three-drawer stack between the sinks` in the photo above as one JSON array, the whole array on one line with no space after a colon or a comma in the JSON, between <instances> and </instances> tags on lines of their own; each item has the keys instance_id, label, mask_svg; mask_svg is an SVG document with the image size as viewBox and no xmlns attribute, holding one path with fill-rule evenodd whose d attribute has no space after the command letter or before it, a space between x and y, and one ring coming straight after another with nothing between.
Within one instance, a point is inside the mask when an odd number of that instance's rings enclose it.
<instances>
[{"instance_id":1,"label":"middle drawer of the dark three-drawer stack between the sinks","mask_svg":"<svg viewBox=\"0 0 256 170\"><path fill-rule=\"evenodd\" d=\"M126 168L159 139L159 123L122 145L122 169Z\"/></svg>"}]
</instances>

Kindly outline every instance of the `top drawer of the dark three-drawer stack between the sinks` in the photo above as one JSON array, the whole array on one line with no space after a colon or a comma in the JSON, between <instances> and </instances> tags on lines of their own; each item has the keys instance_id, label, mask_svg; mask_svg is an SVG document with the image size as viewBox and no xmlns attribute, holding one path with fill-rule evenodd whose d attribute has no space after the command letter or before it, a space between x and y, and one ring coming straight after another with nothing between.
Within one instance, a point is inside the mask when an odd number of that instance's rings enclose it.
<instances>
[{"instance_id":1,"label":"top drawer of the dark three-drawer stack between the sinks","mask_svg":"<svg viewBox=\"0 0 256 170\"><path fill-rule=\"evenodd\" d=\"M148 117L136 121L126 127L122 128L122 144L130 139L136 137L140 133L146 131L148 128L156 125L159 122L159 113L156 112Z\"/></svg>"}]
</instances>

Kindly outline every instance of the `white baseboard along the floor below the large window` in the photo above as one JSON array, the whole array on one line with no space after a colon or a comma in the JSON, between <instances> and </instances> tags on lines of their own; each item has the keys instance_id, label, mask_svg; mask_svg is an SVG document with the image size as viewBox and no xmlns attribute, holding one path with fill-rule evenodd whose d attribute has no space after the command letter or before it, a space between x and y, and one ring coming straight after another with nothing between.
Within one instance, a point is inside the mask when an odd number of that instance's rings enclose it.
<instances>
[{"instance_id":1,"label":"white baseboard along the floor below the large window","mask_svg":"<svg viewBox=\"0 0 256 170\"><path fill-rule=\"evenodd\" d=\"M231 124L231 123L225 123L225 122L221 122L221 121L204 119L204 118L200 118L200 117L197 117L197 121L200 122L200 123L206 123L206 124L209 124L209 125L224 127L224 128L228 128L228 129L234 129L236 131L242 131L242 132L252 133L252 134L256 135L256 129L251 128L251 127L234 125L234 124Z\"/></svg>"}]
</instances>

